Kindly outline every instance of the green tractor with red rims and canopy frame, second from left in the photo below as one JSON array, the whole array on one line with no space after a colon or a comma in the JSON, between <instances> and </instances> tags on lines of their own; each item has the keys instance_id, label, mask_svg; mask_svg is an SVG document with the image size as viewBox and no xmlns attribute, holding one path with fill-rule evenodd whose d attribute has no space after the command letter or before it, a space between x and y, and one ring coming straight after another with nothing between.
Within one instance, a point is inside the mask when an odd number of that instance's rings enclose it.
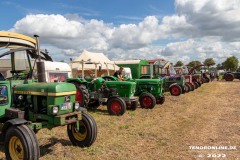
<instances>
[{"instance_id":1,"label":"green tractor with red rims and canopy frame, second from left","mask_svg":"<svg viewBox=\"0 0 240 160\"><path fill-rule=\"evenodd\" d=\"M97 77L99 62L72 61L81 64L82 78L68 78L66 82L73 83L77 88L76 100L82 102L82 106L96 109L100 104L107 105L110 115L123 115L126 109L135 110L137 97L134 96L135 82L105 81ZM84 65L95 64L95 78L85 78Z\"/></svg>"}]
</instances>

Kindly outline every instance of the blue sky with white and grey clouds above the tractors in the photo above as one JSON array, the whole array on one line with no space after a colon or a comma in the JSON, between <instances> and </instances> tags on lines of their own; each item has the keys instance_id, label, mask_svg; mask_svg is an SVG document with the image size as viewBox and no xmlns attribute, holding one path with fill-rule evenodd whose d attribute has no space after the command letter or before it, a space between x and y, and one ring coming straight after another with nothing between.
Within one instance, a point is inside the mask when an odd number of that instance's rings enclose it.
<instances>
[{"instance_id":1,"label":"blue sky with white and grey clouds above the tractors","mask_svg":"<svg viewBox=\"0 0 240 160\"><path fill-rule=\"evenodd\" d=\"M38 34L56 61L240 61L240 0L1 0L0 30Z\"/></svg>"}]
</instances>

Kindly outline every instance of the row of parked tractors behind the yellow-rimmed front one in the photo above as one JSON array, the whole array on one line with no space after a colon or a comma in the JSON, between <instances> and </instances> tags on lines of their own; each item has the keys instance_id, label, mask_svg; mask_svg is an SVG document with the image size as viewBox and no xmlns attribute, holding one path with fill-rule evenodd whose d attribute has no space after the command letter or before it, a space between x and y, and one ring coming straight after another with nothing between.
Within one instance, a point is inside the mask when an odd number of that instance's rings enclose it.
<instances>
[{"instance_id":1,"label":"row of parked tractors behind the yellow-rimmed front one","mask_svg":"<svg viewBox=\"0 0 240 160\"><path fill-rule=\"evenodd\" d=\"M71 63L89 63L72 61ZM208 76L193 68L173 67L172 63L157 60L115 61L124 69L124 81L113 75L94 78L67 78L77 88L76 100L81 106L96 109L101 104L107 106L111 115L123 115L127 109L135 110L138 106L152 109L156 104L163 104L165 93L180 96L209 82ZM130 71L130 72L129 72ZM97 75L97 74L96 74Z\"/></svg>"}]
</instances>

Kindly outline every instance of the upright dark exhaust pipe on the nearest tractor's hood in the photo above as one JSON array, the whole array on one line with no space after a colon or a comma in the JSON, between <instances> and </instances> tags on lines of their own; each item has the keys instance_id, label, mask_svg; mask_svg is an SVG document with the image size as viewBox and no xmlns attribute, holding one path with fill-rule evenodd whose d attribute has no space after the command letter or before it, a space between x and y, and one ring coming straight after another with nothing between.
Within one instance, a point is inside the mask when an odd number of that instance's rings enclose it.
<instances>
[{"instance_id":1,"label":"upright dark exhaust pipe on the nearest tractor's hood","mask_svg":"<svg viewBox=\"0 0 240 160\"><path fill-rule=\"evenodd\" d=\"M37 59L37 77L38 82L46 82L46 75L45 75L45 65L44 62L41 61L41 55L40 55L40 43L39 43L39 36L34 35L36 38L36 52L38 55Z\"/></svg>"}]
</instances>

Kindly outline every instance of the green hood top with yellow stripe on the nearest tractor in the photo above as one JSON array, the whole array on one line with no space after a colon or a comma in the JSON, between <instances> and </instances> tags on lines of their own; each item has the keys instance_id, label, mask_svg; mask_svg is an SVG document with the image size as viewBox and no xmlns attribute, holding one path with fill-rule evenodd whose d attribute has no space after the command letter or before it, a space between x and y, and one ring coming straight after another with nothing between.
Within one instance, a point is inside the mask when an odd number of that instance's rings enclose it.
<instances>
[{"instance_id":1,"label":"green hood top with yellow stripe on the nearest tractor","mask_svg":"<svg viewBox=\"0 0 240 160\"><path fill-rule=\"evenodd\" d=\"M33 83L14 87L14 93L39 96L65 96L76 94L76 88L71 83Z\"/></svg>"}]
</instances>

